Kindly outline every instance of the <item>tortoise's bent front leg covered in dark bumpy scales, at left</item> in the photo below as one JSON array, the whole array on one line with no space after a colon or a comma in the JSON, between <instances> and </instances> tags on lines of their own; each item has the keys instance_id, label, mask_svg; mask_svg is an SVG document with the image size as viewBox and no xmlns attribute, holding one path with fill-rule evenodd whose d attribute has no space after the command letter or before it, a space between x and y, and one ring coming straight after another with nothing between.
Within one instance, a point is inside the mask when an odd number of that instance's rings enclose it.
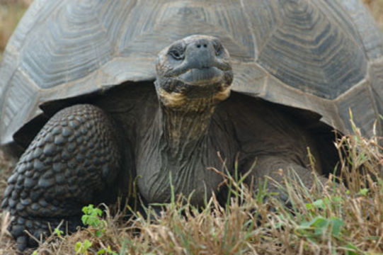
<instances>
[{"instance_id":1,"label":"tortoise's bent front leg covered in dark bumpy scales, at left","mask_svg":"<svg viewBox=\"0 0 383 255\"><path fill-rule=\"evenodd\" d=\"M33 245L24 229L40 238L64 219L72 231L81 208L115 180L120 152L113 126L91 105L65 108L40 130L8 179L2 207L13 218L9 230L23 250ZM63 224L63 228L65 224Z\"/></svg>"}]
</instances>

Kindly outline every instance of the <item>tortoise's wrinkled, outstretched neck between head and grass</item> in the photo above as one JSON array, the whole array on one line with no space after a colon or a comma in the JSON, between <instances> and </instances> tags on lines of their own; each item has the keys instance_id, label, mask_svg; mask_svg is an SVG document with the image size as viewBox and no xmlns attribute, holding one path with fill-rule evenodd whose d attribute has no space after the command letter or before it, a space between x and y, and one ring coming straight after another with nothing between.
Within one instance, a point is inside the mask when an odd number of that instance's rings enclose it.
<instances>
[{"instance_id":1,"label":"tortoise's wrinkled, outstretched neck between head and grass","mask_svg":"<svg viewBox=\"0 0 383 255\"><path fill-rule=\"evenodd\" d=\"M212 121L215 104L198 103L199 106L186 102L182 109L167 108L160 103L152 125L144 132L136 171L141 176L139 190L148 203L170 199L169 174L174 191L185 196L193 192L191 202L200 205L205 194L211 194L222 181L221 176L208 168L221 169L217 152L234 154L234 143L231 135L222 132Z\"/></svg>"}]
</instances>

